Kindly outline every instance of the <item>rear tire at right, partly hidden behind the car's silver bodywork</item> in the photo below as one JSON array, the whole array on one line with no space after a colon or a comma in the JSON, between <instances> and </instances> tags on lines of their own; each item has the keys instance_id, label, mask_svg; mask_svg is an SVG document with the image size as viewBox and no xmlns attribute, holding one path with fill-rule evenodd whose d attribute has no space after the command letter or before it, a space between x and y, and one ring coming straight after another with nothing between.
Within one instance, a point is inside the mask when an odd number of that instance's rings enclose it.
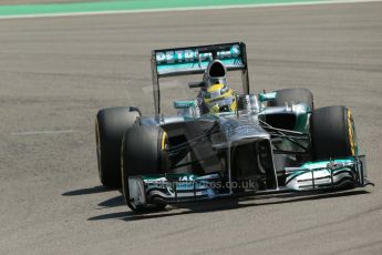
<instances>
[{"instance_id":1,"label":"rear tire at right, partly hidden behind the car's silver bodywork","mask_svg":"<svg viewBox=\"0 0 382 255\"><path fill-rule=\"evenodd\" d=\"M278 90L276 99L269 101L269 106L285 106L286 103L304 103L313 110L313 94L308 89L285 89Z\"/></svg>"}]
</instances>

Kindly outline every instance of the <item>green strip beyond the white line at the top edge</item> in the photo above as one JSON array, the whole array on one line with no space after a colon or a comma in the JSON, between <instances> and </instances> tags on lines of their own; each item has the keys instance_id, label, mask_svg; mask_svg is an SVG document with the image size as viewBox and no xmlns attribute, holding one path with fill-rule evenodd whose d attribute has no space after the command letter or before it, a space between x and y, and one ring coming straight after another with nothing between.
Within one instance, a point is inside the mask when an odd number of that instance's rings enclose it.
<instances>
[{"instance_id":1,"label":"green strip beyond the white line at the top edge","mask_svg":"<svg viewBox=\"0 0 382 255\"><path fill-rule=\"evenodd\" d=\"M120 0L101 2L0 6L0 16L71 12L135 11L147 9L198 8L242 4L311 2L312 0ZM317 1L317 0L314 0Z\"/></svg>"}]
</instances>

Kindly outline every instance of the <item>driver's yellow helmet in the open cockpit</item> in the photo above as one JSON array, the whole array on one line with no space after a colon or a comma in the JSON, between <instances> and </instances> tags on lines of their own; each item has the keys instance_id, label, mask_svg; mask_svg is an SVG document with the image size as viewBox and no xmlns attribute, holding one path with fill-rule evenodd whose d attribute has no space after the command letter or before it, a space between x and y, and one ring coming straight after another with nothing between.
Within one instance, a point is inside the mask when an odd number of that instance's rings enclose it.
<instances>
[{"instance_id":1,"label":"driver's yellow helmet in the open cockpit","mask_svg":"<svg viewBox=\"0 0 382 255\"><path fill-rule=\"evenodd\" d=\"M236 94L226 82L209 85L202 92L202 99L207 113L235 112L237 109Z\"/></svg>"}]
</instances>

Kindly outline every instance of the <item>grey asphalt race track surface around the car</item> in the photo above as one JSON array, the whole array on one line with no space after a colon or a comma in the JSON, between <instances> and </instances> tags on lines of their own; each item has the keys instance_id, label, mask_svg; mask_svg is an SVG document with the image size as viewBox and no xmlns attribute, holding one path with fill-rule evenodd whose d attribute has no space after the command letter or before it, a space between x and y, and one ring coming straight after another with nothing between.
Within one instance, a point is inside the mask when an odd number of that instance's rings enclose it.
<instances>
[{"instance_id":1,"label":"grey asphalt race track surface around the car","mask_svg":"<svg viewBox=\"0 0 382 255\"><path fill-rule=\"evenodd\" d=\"M254 92L351 106L376 186L133 214L100 186L96 111L153 113L152 49L238 40ZM381 254L381 99L382 2L1 20L0 254Z\"/></svg>"}]
</instances>

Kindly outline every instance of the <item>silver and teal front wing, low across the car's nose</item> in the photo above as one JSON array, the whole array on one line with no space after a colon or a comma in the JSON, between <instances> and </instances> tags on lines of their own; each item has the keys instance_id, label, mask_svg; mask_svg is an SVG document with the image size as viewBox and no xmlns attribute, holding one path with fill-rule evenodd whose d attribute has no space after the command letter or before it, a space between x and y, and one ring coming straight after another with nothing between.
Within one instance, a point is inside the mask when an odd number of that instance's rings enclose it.
<instances>
[{"instance_id":1,"label":"silver and teal front wing, low across the car's nose","mask_svg":"<svg viewBox=\"0 0 382 255\"><path fill-rule=\"evenodd\" d=\"M300 167L285 170L286 185L275 190L260 190L256 182L245 188L236 188L235 182L223 182L219 174L197 176L193 174L163 174L130 176L131 203L135 206L147 204L174 204L208 201L228 196L254 194L335 191L373 185L366 178L365 156L353 156L329 161L308 162Z\"/></svg>"}]
</instances>

